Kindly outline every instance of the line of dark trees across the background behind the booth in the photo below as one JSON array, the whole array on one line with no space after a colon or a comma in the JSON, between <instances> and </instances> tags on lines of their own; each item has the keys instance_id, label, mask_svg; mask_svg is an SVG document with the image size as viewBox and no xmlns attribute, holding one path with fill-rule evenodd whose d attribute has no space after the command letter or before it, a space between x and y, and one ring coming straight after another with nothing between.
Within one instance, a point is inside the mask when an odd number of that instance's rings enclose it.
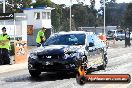
<instances>
[{"instance_id":1,"label":"line of dark trees across the background behind the booth","mask_svg":"<svg viewBox=\"0 0 132 88\"><path fill-rule=\"evenodd\" d=\"M65 4L55 4L51 0L5 0L6 13L20 13L23 8L53 7L51 22L54 32L70 31L70 7ZM95 9L96 0L90 0L90 5L83 1L71 6L71 29L78 30L78 27L103 26L103 0L100 0L100 9ZM2 1L0 1L0 13L2 13ZM106 26L120 26L132 30L132 3L116 3L116 0L106 0Z\"/></svg>"}]
</instances>

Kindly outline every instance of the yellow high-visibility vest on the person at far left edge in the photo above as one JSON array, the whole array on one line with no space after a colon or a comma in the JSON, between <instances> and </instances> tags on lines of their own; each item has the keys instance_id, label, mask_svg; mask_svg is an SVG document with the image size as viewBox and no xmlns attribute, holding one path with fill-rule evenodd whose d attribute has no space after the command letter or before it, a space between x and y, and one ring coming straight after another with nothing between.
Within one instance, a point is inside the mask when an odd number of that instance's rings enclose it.
<instances>
[{"instance_id":1,"label":"yellow high-visibility vest on the person at far left edge","mask_svg":"<svg viewBox=\"0 0 132 88\"><path fill-rule=\"evenodd\" d=\"M0 41L7 40L8 38L10 38L9 35L3 36L3 34L0 34ZM6 48L9 50L10 49L10 41L4 42L4 45L0 44L0 48Z\"/></svg>"}]
</instances>

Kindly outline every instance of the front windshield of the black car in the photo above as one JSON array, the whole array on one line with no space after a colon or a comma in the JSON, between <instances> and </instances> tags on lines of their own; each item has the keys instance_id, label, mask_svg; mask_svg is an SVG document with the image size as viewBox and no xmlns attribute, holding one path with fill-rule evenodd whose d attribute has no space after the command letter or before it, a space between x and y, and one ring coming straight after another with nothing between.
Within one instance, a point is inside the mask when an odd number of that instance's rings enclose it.
<instances>
[{"instance_id":1,"label":"front windshield of the black car","mask_svg":"<svg viewBox=\"0 0 132 88\"><path fill-rule=\"evenodd\" d=\"M47 39L45 45L84 45L85 34L55 34Z\"/></svg>"}]
</instances>

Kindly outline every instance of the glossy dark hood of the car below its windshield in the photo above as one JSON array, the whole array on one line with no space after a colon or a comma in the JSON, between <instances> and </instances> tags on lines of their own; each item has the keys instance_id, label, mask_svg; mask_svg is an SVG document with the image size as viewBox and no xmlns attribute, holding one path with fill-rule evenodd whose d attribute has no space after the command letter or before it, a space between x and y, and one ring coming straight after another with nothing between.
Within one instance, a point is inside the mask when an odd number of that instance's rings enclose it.
<instances>
[{"instance_id":1,"label":"glossy dark hood of the car below its windshield","mask_svg":"<svg viewBox=\"0 0 132 88\"><path fill-rule=\"evenodd\" d=\"M49 45L44 47L39 47L37 49L38 55L56 55L56 54L65 54L76 52L77 50L81 49L82 45L74 46L74 45Z\"/></svg>"}]
</instances>

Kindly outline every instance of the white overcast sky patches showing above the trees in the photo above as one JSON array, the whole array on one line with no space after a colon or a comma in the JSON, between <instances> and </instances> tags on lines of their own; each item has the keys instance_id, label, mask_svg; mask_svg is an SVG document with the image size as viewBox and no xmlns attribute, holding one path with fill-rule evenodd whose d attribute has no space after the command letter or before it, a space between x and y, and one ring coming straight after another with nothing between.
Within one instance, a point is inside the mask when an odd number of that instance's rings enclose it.
<instances>
[{"instance_id":1,"label":"white overcast sky patches showing above the trees","mask_svg":"<svg viewBox=\"0 0 132 88\"><path fill-rule=\"evenodd\" d=\"M66 4L66 5L70 5L70 0L51 0L52 2L56 3L56 4ZM80 0L80 1L84 1L84 0ZM85 0L84 3L85 4L90 4L89 2L90 0ZM96 5L95 5L95 8L99 8L100 7L100 0L95 0L96 1ZM129 2L132 2L132 0L116 0L117 3L122 3L122 2L125 2L125 3L129 3ZM77 1L76 0L72 0L72 3L76 4Z\"/></svg>"}]
</instances>

